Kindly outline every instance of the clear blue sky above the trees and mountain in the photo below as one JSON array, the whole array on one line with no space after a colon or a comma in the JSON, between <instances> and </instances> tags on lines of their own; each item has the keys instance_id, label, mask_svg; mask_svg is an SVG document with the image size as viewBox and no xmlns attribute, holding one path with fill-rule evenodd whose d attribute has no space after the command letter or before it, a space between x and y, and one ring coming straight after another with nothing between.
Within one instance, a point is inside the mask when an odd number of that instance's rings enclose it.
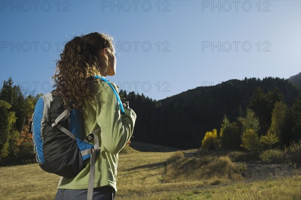
<instances>
[{"instance_id":1,"label":"clear blue sky above the trees and mountain","mask_svg":"<svg viewBox=\"0 0 301 200\"><path fill-rule=\"evenodd\" d=\"M114 37L121 89L163 99L229 79L301 71L301 1L1 1L0 81L52 90L64 42Z\"/></svg>"}]
</instances>

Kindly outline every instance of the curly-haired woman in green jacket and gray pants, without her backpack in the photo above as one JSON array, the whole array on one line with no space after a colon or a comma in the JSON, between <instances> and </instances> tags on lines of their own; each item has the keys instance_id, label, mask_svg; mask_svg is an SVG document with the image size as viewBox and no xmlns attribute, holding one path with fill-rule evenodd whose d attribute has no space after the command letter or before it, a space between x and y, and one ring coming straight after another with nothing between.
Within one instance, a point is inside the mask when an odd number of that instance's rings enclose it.
<instances>
[{"instance_id":1,"label":"curly-haired woman in green jacket and gray pants, without her backpack","mask_svg":"<svg viewBox=\"0 0 301 200\"><path fill-rule=\"evenodd\" d=\"M118 152L129 141L136 114L123 104L124 115L111 87L94 76L113 76L116 58L112 39L90 33L69 41L57 62L55 86L66 107L82 111L83 132L87 136L97 126L100 154L96 156L93 199L113 199L116 189ZM117 86L111 82L115 90ZM86 167L74 178L62 178L56 199L86 199L90 172Z\"/></svg>"}]
</instances>

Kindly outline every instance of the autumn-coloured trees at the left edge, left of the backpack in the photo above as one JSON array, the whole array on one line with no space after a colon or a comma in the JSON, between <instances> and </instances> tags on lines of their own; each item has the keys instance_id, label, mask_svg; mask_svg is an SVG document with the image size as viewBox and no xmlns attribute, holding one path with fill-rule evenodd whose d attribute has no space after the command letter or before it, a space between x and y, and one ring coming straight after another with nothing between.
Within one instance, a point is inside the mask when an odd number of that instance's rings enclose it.
<instances>
[{"instance_id":1,"label":"autumn-coloured trees at the left edge, left of the backpack","mask_svg":"<svg viewBox=\"0 0 301 200\"><path fill-rule=\"evenodd\" d=\"M0 92L0 165L35 159L29 122L40 95L25 97L12 78L4 81Z\"/></svg>"}]
</instances>

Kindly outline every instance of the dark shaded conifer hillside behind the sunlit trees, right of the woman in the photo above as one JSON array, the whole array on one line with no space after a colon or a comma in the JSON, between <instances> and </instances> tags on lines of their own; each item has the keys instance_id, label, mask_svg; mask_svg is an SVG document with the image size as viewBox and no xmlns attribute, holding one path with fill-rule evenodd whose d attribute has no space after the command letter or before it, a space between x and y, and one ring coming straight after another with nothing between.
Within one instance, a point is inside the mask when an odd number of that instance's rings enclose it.
<instances>
[{"instance_id":1,"label":"dark shaded conifer hillside behind the sunlit trees, right of the woman","mask_svg":"<svg viewBox=\"0 0 301 200\"><path fill-rule=\"evenodd\" d=\"M138 116L133 140L189 149L199 148L206 132L220 131L225 115L230 122L236 122L248 109L259 118L258 135L266 135L276 102L283 102L289 108L284 116L286 130L281 133L285 135L282 143L298 141L299 92L300 87L288 80L268 77L234 79L215 86L197 87L161 101L133 92L121 91L120 95L130 101ZM237 123L241 129L241 123Z\"/></svg>"}]
</instances>

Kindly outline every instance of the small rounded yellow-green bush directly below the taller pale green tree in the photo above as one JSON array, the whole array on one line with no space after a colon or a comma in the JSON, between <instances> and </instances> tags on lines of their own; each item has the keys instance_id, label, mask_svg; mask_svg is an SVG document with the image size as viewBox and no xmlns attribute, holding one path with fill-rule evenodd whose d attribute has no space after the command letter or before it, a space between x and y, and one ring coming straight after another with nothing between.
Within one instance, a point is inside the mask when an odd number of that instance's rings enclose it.
<instances>
[{"instance_id":1,"label":"small rounded yellow-green bush directly below the taller pale green tree","mask_svg":"<svg viewBox=\"0 0 301 200\"><path fill-rule=\"evenodd\" d=\"M241 140L241 147L249 151L256 151L261 148L260 139L257 133L255 133L252 129L248 129L246 132L244 132Z\"/></svg>"}]
</instances>

